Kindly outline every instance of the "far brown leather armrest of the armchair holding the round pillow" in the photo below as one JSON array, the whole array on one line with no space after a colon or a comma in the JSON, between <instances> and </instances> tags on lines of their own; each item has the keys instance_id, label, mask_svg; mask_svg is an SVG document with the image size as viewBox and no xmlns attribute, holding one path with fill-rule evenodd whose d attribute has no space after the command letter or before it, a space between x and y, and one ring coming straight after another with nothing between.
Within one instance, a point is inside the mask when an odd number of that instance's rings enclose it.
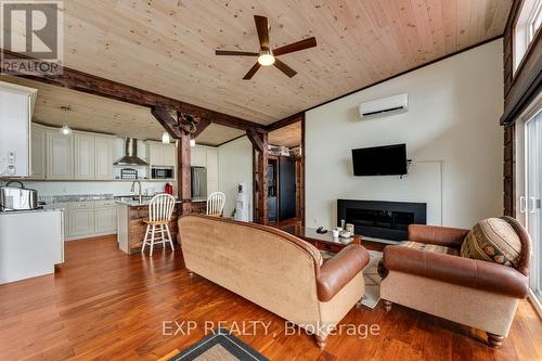
<instances>
[{"instance_id":1,"label":"far brown leather armrest of the armchair holding the round pillow","mask_svg":"<svg viewBox=\"0 0 542 361\"><path fill-rule=\"evenodd\" d=\"M435 244L444 247L460 248L468 230L448 227L409 225L409 241Z\"/></svg>"}]
</instances>

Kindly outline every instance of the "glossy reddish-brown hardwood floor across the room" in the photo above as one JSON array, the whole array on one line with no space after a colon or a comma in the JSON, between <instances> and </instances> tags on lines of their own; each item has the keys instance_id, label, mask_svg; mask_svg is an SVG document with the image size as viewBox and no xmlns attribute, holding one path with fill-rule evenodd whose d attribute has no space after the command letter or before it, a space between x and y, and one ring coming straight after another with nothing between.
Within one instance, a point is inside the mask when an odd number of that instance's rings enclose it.
<instances>
[{"instance_id":1,"label":"glossy reddish-brown hardwood floor across the room","mask_svg":"<svg viewBox=\"0 0 542 361\"><path fill-rule=\"evenodd\" d=\"M163 335L163 321L186 320L197 323L190 335ZM271 360L542 359L542 322L527 301L500 350L480 331L397 305L387 313L380 302L341 322L378 324L379 336L331 336L321 353L313 337L285 335L279 317L190 278L180 250L127 256L115 237L99 237L67 243L55 275L0 286L0 360L156 360L202 338L206 321L253 320L271 322L269 333L237 336Z\"/></svg>"}]
</instances>

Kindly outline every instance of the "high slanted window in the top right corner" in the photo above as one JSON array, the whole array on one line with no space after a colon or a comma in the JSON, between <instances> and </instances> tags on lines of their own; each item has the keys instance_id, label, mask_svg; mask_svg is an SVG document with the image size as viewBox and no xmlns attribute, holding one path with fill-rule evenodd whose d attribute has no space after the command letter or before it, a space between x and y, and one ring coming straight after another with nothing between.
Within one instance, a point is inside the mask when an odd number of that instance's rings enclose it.
<instances>
[{"instance_id":1,"label":"high slanted window in the top right corner","mask_svg":"<svg viewBox=\"0 0 542 361\"><path fill-rule=\"evenodd\" d=\"M542 22L542 0L525 0L514 27L514 73L529 49Z\"/></svg>"}]
</instances>

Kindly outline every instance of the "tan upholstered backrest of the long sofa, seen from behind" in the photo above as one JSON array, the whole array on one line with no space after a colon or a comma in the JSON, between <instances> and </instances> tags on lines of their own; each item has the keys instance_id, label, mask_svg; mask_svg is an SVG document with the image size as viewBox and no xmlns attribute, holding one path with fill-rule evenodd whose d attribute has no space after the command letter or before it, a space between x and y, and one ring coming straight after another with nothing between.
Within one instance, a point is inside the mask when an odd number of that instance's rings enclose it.
<instances>
[{"instance_id":1,"label":"tan upholstered backrest of the long sofa, seen from behind","mask_svg":"<svg viewBox=\"0 0 542 361\"><path fill-rule=\"evenodd\" d=\"M312 245L270 227L206 216L181 217L179 232L189 270L284 319L319 320L322 259Z\"/></svg>"}]
</instances>

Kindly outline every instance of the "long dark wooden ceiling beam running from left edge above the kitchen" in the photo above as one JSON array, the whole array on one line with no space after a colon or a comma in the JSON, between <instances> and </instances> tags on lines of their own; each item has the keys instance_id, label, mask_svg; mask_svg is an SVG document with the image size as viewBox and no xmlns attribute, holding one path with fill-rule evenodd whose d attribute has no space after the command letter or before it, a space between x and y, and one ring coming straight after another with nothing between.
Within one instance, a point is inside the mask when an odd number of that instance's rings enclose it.
<instances>
[{"instance_id":1,"label":"long dark wooden ceiling beam running from left edge above the kitchen","mask_svg":"<svg viewBox=\"0 0 542 361\"><path fill-rule=\"evenodd\" d=\"M42 63L42 61L21 55L11 52L9 50L2 50L2 52L5 59L27 59L31 62ZM151 108L155 108L156 106L166 106L168 108L176 109L184 114L190 114L194 117L207 119L210 123L215 123L221 126L231 127L235 129L241 129L241 130L247 130L249 128L263 129L263 126L260 124L245 120L232 115L207 109L202 106L185 103L177 99L160 95L121 82L101 78L91 74L72 69L69 67L62 67L62 66L59 67L61 67L63 70L61 75L37 76L35 74L10 74L8 65L2 63L0 65L0 72L2 74L9 74L39 82L74 89L89 94L114 99L117 101L136 104L140 106L145 106Z\"/></svg>"}]
</instances>

